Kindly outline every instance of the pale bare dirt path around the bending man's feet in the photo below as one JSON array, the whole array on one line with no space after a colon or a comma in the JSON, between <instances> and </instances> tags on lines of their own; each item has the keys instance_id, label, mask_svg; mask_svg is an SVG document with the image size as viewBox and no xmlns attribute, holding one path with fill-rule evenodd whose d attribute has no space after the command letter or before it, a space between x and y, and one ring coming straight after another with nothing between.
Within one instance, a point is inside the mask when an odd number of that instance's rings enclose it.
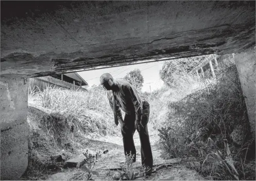
<instances>
[{"instance_id":1,"label":"pale bare dirt path around the bending man's feet","mask_svg":"<svg viewBox=\"0 0 256 181\"><path fill-rule=\"evenodd\" d=\"M169 164L169 167L159 169L155 174L149 177L140 177L135 180L203 180L198 176L196 171L187 169L180 163L181 159L163 159L161 158L161 150L158 146L158 135L152 126L149 125L150 143L152 146L153 164L162 165ZM95 153L98 150L109 150L107 154L103 154L101 159L96 163L94 170L98 175L93 175L94 180L120 180L121 170L120 163L124 161L123 141L121 137L99 137L94 136L92 139L84 138L81 144L89 149L90 152ZM133 170L139 172L141 166L140 155L140 139L139 134L134 134L134 144L136 147L136 163L133 164ZM83 156L83 155L80 155ZM48 180L84 180L86 173L81 169L63 169L62 172L50 175Z\"/></svg>"}]
</instances>

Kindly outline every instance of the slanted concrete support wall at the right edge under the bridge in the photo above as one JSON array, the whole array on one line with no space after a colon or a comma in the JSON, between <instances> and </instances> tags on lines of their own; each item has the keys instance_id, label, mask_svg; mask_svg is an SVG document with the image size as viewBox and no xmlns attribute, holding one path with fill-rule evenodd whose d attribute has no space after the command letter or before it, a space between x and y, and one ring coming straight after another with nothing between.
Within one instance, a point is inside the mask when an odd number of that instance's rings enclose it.
<instances>
[{"instance_id":1,"label":"slanted concrete support wall at the right edge under the bridge","mask_svg":"<svg viewBox=\"0 0 256 181\"><path fill-rule=\"evenodd\" d=\"M248 117L251 126L251 133L255 137L255 80L256 80L256 57L255 48L245 50L242 53L235 54L235 64L238 75L245 95L245 102L248 112Z\"/></svg>"}]
</instances>

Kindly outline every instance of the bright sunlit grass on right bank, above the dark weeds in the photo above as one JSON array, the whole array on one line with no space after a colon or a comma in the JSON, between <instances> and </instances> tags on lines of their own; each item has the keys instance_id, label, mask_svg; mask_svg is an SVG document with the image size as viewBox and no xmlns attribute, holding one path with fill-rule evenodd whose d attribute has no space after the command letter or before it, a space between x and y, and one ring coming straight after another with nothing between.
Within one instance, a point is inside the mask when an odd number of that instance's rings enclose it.
<instances>
[{"instance_id":1,"label":"bright sunlit grass on right bank, above the dark weeds","mask_svg":"<svg viewBox=\"0 0 256 181\"><path fill-rule=\"evenodd\" d=\"M169 103L178 102L195 90L201 90L213 83L212 79L201 79L184 71L178 75L173 75L172 86L163 86L148 96L150 122L153 123L155 129L161 128L163 124L168 122L168 114L172 111L168 108Z\"/></svg>"}]
</instances>

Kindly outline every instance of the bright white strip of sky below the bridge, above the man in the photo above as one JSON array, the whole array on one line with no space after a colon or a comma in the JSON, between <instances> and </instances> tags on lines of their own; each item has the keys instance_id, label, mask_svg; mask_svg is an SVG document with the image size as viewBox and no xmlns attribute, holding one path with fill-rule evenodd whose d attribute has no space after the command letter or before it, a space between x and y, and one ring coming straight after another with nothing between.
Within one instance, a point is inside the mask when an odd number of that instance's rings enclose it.
<instances>
[{"instance_id":1,"label":"bright white strip of sky below the bridge, above the man","mask_svg":"<svg viewBox=\"0 0 256 181\"><path fill-rule=\"evenodd\" d=\"M89 70L77 73L88 83L89 87L91 87L92 85L99 84L99 77L104 73L110 73L114 79L117 79L123 78L128 72L138 68L141 70L141 74L144 78L142 91L150 92L150 87L151 91L153 91L160 89L164 84L159 76L159 71L162 68L163 63L164 61L98 70Z\"/></svg>"}]
</instances>

